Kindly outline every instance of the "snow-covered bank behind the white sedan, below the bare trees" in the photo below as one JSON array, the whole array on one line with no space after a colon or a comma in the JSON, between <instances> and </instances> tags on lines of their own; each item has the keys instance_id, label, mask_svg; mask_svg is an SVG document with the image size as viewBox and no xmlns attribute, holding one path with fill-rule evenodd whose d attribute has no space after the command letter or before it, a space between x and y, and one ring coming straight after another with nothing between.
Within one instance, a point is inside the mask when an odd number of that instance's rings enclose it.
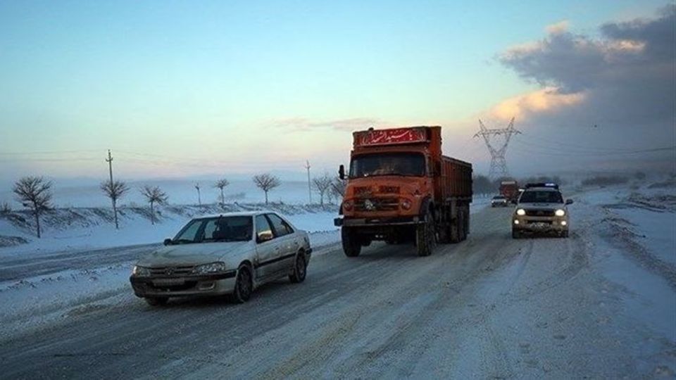
<instances>
[{"instance_id":1,"label":"snow-covered bank behind the white sedan, below the bare trees","mask_svg":"<svg viewBox=\"0 0 676 380\"><path fill-rule=\"evenodd\" d=\"M308 232L332 231L335 206L263 204L170 205L158 208L158 222L151 224L146 208L120 210L120 229L115 229L108 208L61 208L45 215L42 239L34 234L34 221L26 212L0 215L0 255L110 248L159 243L174 236L192 217L230 211L273 210ZM4 245L4 246L3 246Z\"/></svg>"}]
</instances>

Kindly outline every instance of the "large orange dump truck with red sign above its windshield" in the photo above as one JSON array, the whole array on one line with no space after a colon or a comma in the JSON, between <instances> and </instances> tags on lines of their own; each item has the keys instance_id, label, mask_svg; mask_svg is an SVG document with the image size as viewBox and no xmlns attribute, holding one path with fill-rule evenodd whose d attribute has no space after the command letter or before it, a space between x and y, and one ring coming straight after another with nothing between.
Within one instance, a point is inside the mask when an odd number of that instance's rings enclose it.
<instances>
[{"instance_id":1,"label":"large orange dump truck with red sign above its windshield","mask_svg":"<svg viewBox=\"0 0 676 380\"><path fill-rule=\"evenodd\" d=\"M345 255L371 241L413 242L427 256L437 241L457 243L470 232L472 164L442 156L441 127L353 132L349 172L334 220Z\"/></svg>"}]
</instances>

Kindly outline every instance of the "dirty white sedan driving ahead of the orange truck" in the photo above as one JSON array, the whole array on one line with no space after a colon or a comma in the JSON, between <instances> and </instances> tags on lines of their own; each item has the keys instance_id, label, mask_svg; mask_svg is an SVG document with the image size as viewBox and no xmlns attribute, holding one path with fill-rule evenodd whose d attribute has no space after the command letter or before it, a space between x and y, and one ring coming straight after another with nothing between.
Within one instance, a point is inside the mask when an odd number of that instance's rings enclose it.
<instances>
[{"instance_id":1,"label":"dirty white sedan driving ahead of the orange truck","mask_svg":"<svg viewBox=\"0 0 676 380\"><path fill-rule=\"evenodd\" d=\"M165 246L141 258L130 281L150 305L170 297L230 295L244 303L265 282L306 277L312 248L307 232L277 213L198 217Z\"/></svg>"}]
</instances>

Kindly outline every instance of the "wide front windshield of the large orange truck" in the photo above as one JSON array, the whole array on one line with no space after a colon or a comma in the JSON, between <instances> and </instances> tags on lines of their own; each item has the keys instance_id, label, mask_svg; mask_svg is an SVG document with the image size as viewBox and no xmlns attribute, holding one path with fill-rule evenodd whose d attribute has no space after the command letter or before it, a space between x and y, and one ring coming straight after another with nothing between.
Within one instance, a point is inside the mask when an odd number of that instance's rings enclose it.
<instances>
[{"instance_id":1,"label":"wide front windshield of the large orange truck","mask_svg":"<svg viewBox=\"0 0 676 380\"><path fill-rule=\"evenodd\" d=\"M356 156L350 163L350 177L376 175L425 175L425 156L419 153L381 153Z\"/></svg>"}]
</instances>

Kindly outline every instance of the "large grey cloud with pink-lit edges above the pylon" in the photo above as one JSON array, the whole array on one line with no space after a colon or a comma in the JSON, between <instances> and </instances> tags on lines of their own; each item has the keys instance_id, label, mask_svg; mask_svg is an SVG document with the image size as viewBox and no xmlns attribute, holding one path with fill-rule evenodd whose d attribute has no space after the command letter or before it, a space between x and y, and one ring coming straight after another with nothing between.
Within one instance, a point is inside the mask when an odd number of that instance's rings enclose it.
<instances>
[{"instance_id":1,"label":"large grey cloud with pink-lit edges above the pylon","mask_svg":"<svg viewBox=\"0 0 676 380\"><path fill-rule=\"evenodd\" d=\"M567 22L550 25L543 39L512 46L497 56L504 67L539 89L501 101L484 118L515 116L517 126L531 135L568 140L564 144L571 146L610 151L673 145L674 25L674 4L661 8L653 18L605 23L599 27L599 37L571 32ZM599 128L589 132L595 126ZM522 139L530 144L527 135ZM587 151L591 160L594 149ZM670 160L673 166L675 153L661 154L663 162ZM622 156L618 157L621 162ZM625 161L641 158L627 157Z\"/></svg>"}]
</instances>

